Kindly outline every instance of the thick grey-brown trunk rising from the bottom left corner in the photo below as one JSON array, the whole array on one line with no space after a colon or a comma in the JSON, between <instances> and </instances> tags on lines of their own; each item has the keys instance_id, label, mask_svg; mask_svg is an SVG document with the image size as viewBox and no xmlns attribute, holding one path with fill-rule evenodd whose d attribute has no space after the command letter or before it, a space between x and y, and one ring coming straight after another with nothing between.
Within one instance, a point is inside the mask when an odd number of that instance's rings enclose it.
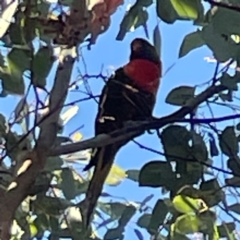
<instances>
[{"instance_id":1,"label":"thick grey-brown trunk rising from the bottom left corner","mask_svg":"<svg viewBox=\"0 0 240 240\"><path fill-rule=\"evenodd\" d=\"M6 191L0 191L0 239L10 239L10 227L15 211L27 196L28 190L34 183L39 171L44 167L49 150L53 146L57 131L58 119L67 93L73 59L59 64L50 93L49 108L54 113L46 118L40 125L40 134L33 151L29 152L22 160L22 165L17 171L17 176Z\"/></svg>"}]
</instances>

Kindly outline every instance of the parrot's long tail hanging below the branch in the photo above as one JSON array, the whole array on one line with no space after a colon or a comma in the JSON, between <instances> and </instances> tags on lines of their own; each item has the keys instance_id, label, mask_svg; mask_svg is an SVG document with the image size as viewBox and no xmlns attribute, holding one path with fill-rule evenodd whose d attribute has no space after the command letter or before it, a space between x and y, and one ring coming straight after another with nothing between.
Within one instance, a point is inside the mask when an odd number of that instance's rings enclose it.
<instances>
[{"instance_id":1,"label":"parrot's long tail hanging below the branch","mask_svg":"<svg viewBox=\"0 0 240 240\"><path fill-rule=\"evenodd\" d=\"M88 228L90 225L94 208L101 195L104 182L110 172L118 149L119 148L116 149L116 146L108 146L98 149L89 165L87 165L84 169L88 170L92 166L95 166L92 179L88 185L86 197L81 204L81 214L85 228Z\"/></svg>"}]
</instances>

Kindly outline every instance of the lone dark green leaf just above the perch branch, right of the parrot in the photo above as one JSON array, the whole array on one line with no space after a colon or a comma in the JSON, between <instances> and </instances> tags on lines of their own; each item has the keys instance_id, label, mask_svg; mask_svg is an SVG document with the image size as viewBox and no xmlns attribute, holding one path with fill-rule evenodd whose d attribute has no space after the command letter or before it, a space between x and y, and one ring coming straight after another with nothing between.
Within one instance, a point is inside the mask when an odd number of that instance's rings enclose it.
<instances>
[{"instance_id":1,"label":"lone dark green leaf just above the perch branch, right of the parrot","mask_svg":"<svg viewBox=\"0 0 240 240\"><path fill-rule=\"evenodd\" d=\"M195 88L190 86L181 86L171 90L166 98L166 103L183 106L189 99L194 98Z\"/></svg>"}]
</instances>

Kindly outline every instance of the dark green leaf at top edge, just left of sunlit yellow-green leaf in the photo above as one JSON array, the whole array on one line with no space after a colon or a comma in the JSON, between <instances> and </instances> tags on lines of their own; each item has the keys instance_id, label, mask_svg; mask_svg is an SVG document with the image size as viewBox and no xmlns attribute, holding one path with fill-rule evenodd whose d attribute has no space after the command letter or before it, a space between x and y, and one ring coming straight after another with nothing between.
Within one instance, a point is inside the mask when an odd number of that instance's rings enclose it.
<instances>
[{"instance_id":1,"label":"dark green leaf at top edge, just left of sunlit yellow-green leaf","mask_svg":"<svg viewBox=\"0 0 240 240\"><path fill-rule=\"evenodd\" d=\"M179 19L176 10L169 0L157 0L157 15L165 23L174 23Z\"/></svg>"}]
</instances>

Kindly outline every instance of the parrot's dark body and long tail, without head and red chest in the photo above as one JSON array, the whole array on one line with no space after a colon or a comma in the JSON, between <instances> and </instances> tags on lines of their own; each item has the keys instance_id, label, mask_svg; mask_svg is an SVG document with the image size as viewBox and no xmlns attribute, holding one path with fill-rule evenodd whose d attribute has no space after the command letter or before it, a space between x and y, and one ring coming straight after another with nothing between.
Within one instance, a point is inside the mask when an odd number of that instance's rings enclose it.
<instances>
[{"instance_id":1,"label":"parrot's dark body and long tail, without head and red chest","mask_svg":"<svg viewBox=\"0 0 240 240\"><path fill-rule=\"evenodd\" d=\"M127 121L143 120L151 116L155 97L137 89L131 79L123 72L116 71L104 87L95 121L95 134L110 133L121 129ZM143 131L139 131L139 135ZM89 226L91 216L104 182L111 170L114 157L118 150L131 139L125 139L102 148L93 149L90 163L84 170L94 168L93 177L88 186L86 198L82 203L81 212L85 226Z\"/></svg>"}]
</instances>

